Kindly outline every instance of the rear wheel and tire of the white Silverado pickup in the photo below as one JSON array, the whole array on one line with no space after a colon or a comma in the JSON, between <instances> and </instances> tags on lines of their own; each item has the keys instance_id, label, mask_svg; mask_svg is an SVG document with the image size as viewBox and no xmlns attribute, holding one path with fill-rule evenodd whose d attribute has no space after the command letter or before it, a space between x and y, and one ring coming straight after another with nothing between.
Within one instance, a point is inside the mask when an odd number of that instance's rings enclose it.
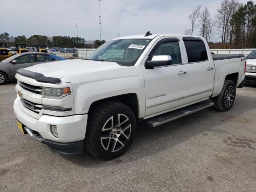
<instances>
[{"instance_id":1,"label":"rear wheel and tire of the white Silverado pickup","mask_svg":"<svg viewBox=\"0 0 256 192\"><path fill-rule=\"evenodd\" d=\"M228 111L232 108L236 98L236 86L233 81L225 80L222 91L214 98L216 110Z\"/></svg>"}]
</instances>

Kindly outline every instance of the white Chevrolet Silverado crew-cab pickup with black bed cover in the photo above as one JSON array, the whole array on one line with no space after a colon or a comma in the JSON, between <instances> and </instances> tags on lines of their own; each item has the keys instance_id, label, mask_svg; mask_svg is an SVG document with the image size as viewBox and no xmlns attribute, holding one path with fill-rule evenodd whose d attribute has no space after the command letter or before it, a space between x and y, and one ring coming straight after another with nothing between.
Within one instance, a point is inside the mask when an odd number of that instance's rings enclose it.
<instances>
[{"instance_id":1,"label":"white Chevrolet Silverado crew-cab pickup with black bed cover","mask_svg":"<svg viewBox=\"0 0 256 192\"><path fill-rule=\"evenodd\" d=\"M17 71L14 112L23 134L64 154L123 154L136 123L156 127L215 106L230 110L244 83L243 55L212 55L197 36L110 40L84 60Z\"/></svg>"}]
</instances>

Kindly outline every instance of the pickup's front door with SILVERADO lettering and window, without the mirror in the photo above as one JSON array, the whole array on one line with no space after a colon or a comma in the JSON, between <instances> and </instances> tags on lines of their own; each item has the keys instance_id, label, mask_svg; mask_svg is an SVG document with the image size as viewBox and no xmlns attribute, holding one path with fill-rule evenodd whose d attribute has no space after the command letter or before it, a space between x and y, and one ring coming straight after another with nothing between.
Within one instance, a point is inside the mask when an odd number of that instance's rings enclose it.
<instances>
[{"instance_id":1,"label":"pickup's front door with SILVERADO lettering and window, without the mirror","mask_svg":"<svg viewBox=\"0 0 256 192\"><path fill-rule=\"evenodd\" d=\"M146 69L144 63L156 55L170 55L172 63ZM146 116L161 114L186 103L187 75L179 38L162 38L142 62L145 81Z\"/></svg>"}]
</instances>

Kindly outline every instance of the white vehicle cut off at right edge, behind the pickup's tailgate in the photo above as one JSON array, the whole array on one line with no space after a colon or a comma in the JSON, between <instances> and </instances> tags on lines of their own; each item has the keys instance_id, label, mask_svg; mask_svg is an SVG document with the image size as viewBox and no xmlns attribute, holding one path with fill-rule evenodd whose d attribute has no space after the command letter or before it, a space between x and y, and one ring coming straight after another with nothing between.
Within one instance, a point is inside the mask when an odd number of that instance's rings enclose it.
<instances>
[{"instance_id":1,"label":"white vehicle cut off at right edge, behind the pickup's tailgate","mask_svg":"<svg viewBox=\"0 0 256 192\"><path fill-rule=\"evenodd\" d=\"M256 84L256 50L246 57L245 83Z\"/></svg>"}]
</instances>

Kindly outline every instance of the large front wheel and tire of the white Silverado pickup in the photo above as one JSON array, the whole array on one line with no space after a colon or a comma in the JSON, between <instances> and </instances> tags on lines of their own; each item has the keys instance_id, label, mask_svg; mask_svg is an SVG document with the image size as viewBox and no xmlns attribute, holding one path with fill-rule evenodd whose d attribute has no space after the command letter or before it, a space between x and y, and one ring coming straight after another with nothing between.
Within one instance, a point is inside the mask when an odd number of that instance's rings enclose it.
<instances>
[{"instance_id":1,"label":"large front wheel and tire of the white Silverado pickup","mask_svg":"<svg viewBox=\"0 0 256 192\"><path fill-rule=\"evenodd\" d=\"M136 118L132 110L119 102L106 102L90 113L86 148L97 158L113 159L129 148L135 132Z\"/></svg>"}]
</instances>

